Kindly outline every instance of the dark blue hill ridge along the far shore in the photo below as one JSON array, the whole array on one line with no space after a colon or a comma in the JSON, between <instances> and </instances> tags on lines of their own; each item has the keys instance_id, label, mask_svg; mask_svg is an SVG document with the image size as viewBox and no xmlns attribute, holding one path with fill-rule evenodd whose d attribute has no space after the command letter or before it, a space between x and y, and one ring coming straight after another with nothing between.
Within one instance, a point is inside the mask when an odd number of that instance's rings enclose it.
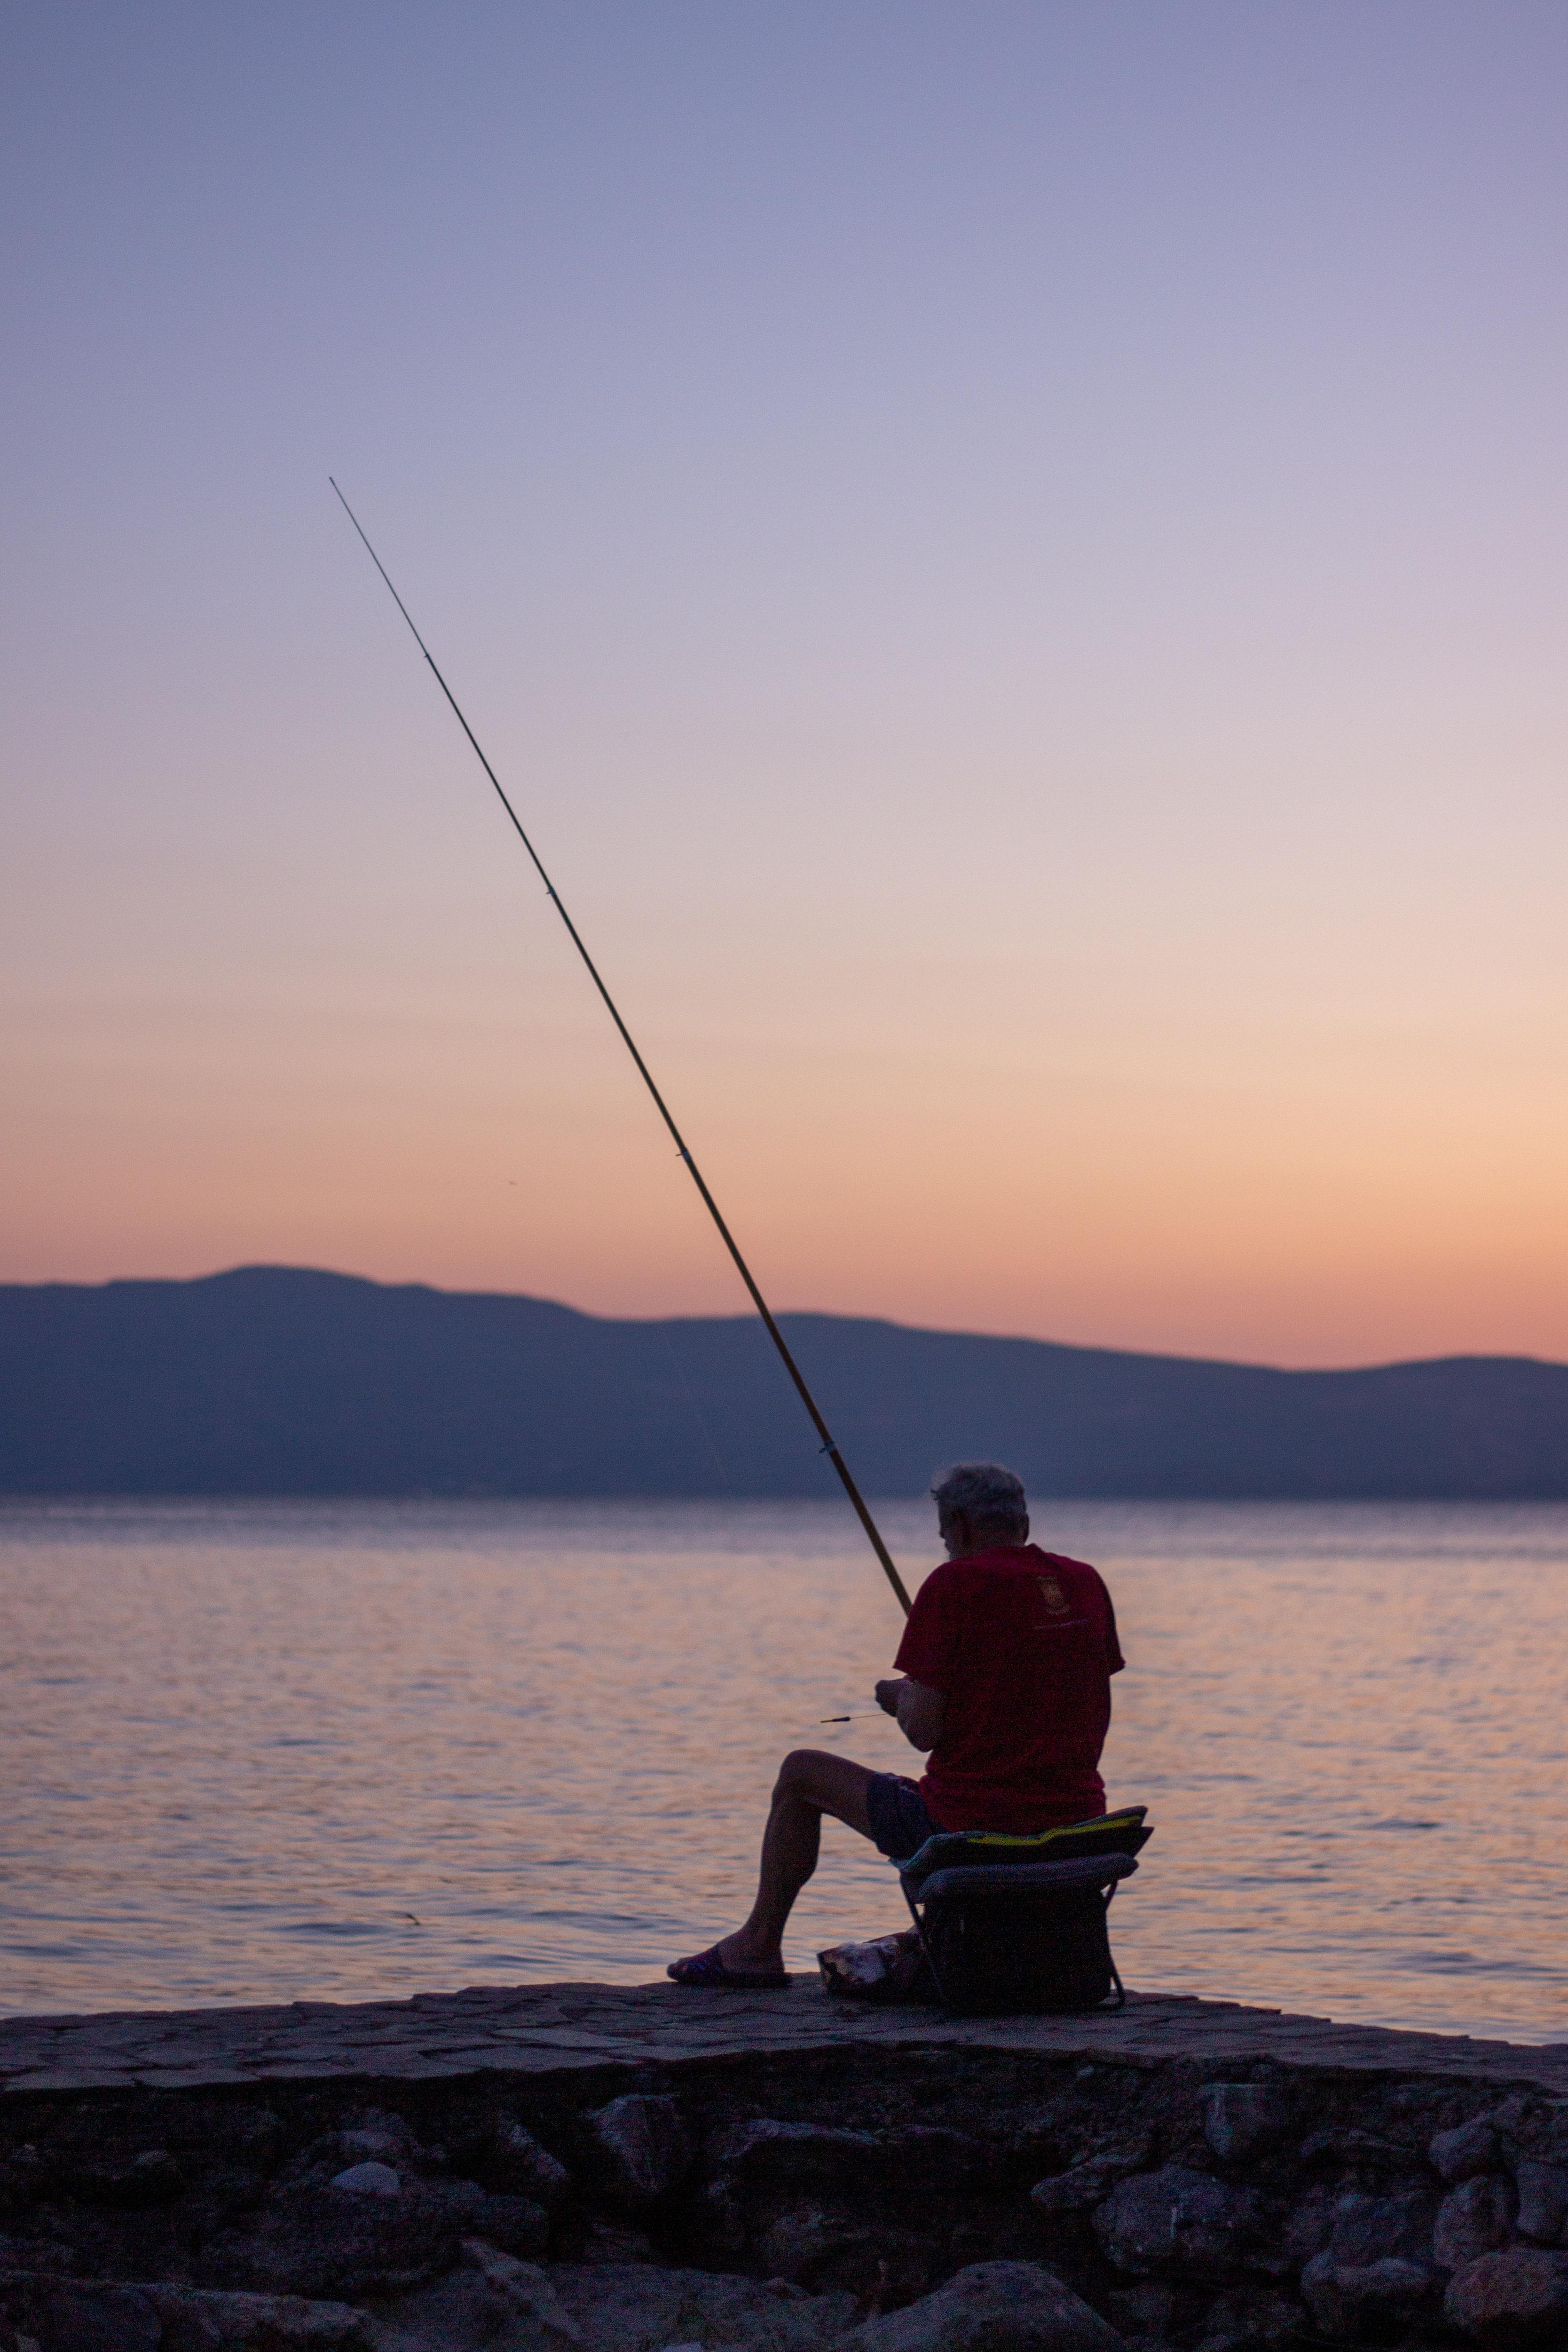
<instances>
[{"instance_id":1,"label":"dark blue hill ridge along the far shore","mask_svg":"<svg viewBox=\"0 0 1568 2352\"><path fill-rule=\"evenodd\" d=\"M1272 1371L780 1315L867 1494L992 1456L1034 1494L1563 1498L1568 1367ZM837 1482L750 1315L284 1265L0 1287L0 1491L816 1496Z\"/></svg>"}]
</instances>

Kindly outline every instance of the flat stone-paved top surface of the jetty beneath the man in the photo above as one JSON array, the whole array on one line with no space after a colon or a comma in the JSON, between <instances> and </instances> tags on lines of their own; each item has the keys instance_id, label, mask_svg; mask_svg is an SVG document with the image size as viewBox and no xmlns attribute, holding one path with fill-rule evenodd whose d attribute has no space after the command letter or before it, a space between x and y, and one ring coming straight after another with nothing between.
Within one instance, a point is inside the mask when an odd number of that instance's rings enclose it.
<instances>
[{"instance_id":1,"label":"flat stone-paved top surface of the jetty beneath the man","mask_svg":"<svg viewBox=\"0 0 1568 2352\"><path fill-rule=\"evenodd\" d=\"M931 2009L863 2009L804 1976L788 1992L696 1992L665 1983L475 1985L421 1992L411 2002L7 2018L0 2020L0 2098L134 2084L562 2074L846 2046L1081 2053L1121 2065L1185 2058L1201 2067L1272 2058L1302 2067L1537 2084L1568 2098L1568 2042L1528 2046L1387 2032L1161 1992L1135 1992L1124 2011L1088 2018L947 2018Z\"/></svg>"}]
</instances>

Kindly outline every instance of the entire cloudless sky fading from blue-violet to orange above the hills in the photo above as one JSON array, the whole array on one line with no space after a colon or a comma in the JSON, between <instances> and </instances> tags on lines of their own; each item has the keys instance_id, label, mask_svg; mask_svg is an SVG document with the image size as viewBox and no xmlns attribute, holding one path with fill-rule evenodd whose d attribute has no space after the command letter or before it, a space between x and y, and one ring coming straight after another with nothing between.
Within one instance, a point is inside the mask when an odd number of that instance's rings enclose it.
<instances>
[{"instance_id":1,"label":"entire cloudless sky fading from blue-violet to orange above the hills","mask_svg":"<svg viewBox=\"0 0 1568 2352\"><path fill-rule=\"evenodd\" d=\"M1568 1357L1568 14L16 5L0 1277Z\"/></svg>"}]
</instances>

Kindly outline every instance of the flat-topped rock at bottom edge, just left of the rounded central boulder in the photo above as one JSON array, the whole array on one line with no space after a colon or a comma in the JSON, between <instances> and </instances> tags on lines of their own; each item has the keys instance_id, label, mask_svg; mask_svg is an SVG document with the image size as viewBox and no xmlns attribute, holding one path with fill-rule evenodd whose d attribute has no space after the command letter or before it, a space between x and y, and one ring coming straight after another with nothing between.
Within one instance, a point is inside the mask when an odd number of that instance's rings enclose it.
<instances>
[{"instance_id":1,"label":"flat-topped rock at bottom edge, just left of the rounded central boulder","mask_svg":"<svg viewBox=\"0 0 1568 2352\"><path fill-rule=\"evenodd\" d=\"M825 2352L856 2321L853 2296L802 2296L773 2279L708 2270L628 2270L552 2263L548 2281L585 2352L668 2352L670 2345L745 2345L745 2352ZM562 2336L508 2336L508 2352L562 2352Z\"/></svg>"}]
</instances>

